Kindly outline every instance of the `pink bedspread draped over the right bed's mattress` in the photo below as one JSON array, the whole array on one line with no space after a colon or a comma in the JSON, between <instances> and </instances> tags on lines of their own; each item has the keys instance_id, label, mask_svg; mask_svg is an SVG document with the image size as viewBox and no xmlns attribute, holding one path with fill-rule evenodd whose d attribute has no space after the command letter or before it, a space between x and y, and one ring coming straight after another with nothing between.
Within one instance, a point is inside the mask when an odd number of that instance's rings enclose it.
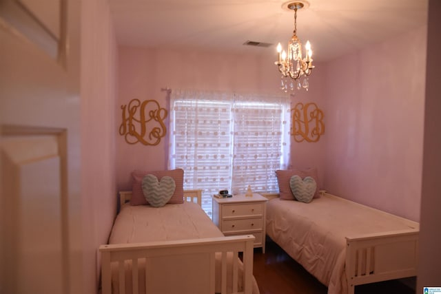
<instances>
[{"instance_id":1,"label":"pink bedspread draped over the right bed's mattress","mask_svg":"<svg viewBox=\"0 0 441 294\"><path fill-rule=\"evenodd\" d=\"M325 194L310 203L276 198L267 202L267 234L302 264L329 294L347 293L346 236L409 227L409 221Z\"/></svg>"}]
</instances>

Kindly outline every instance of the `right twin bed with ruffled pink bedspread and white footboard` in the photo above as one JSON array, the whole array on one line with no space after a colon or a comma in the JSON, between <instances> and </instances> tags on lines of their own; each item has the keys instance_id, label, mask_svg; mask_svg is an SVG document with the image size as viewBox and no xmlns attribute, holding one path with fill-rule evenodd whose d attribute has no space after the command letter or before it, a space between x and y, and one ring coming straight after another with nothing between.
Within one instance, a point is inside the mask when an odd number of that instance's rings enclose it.
<instances>
[{"instance_id":1,"label":"right twin bed with ruffled pink bedspread and white footboard","mask_svg":"<svg viewBox=\"0 0 441 294\"><path fill-rule=\"evenodd\" d=\"M267 202L266 229L328 294L416 275L418 222L329 193L309 203L274 197Z\"/></svg>"}]
</instances>

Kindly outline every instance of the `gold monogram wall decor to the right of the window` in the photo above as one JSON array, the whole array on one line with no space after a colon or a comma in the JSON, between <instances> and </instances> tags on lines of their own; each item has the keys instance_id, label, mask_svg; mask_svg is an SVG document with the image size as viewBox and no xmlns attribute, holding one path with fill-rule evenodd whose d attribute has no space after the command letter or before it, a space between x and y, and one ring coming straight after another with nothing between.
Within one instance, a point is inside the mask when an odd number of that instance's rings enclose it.
<instances>
[{"instance_id":1,"label":"gold monogram wall decor to the right of the window","mask_svg":"<svg viewBox=\"0 0 441 294\"><path fill-rule=\"evenodd\" d=\"M325 133L325 123L323 114L316 103L297 103L291 109L292 125L291 135L296 142L317 142L320 136Z\"/></svg>"}]
</instances>

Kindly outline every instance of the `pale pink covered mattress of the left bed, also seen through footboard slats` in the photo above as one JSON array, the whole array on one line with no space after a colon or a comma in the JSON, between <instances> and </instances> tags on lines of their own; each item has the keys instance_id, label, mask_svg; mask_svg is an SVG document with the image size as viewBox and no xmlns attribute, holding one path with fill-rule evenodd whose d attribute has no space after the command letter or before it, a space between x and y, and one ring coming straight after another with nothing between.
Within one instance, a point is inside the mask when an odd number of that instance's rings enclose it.
<instances>
[{"instance_id":1,"label":"pale pink covered mattress of the left bed, also seen through footboard slats","mask_svg":"<svg viewBox=\"0 0 441 294\"><path fill-rule=\"evenodd\" d=\"M112 232L110 234L109 244L123 244L123 243L140 243L140 242L156 242L167 240L187 240L187 239L201 239L201 238L218 238L223 237L223 233L216 227L216 225L209 219L205 211L201 209L196 203L184 202L183 204L166 204L163 207L150 207L148 205L132 206L125 204L121 208ZM227 255L229 259L228 266L232 264L232 255ZM170 257L170 262L176 261L177 257ZM216 259L220 260L219 256ZM179 260L179 263L184 263L191 271L192 266L197 265L197 258L194 262L187 260ZM164 261L158 262L155 266L161 266ZM239 271L241 271L243 264L240 262ZM126 262L126 293L132 293L132 265ZM143 288L144 279L144 263L140 262L139 271L141 278L140 291L145 292ZM216 262L216 273L220 275L220 262ZM112 281L116 281L118 275L117 269L112 269ZM217 275L217 274L216 274ZM231 281L232 278L227 277ZM241 287L241 278L239 279L239 288ZM112 282L114 293L117 293L118 286ZM228 282L227 288L232 289L232 283ZM220 292L220 281L216 279L216 293ZM256 280L253 278L253 293L258 294L258 286Z\"/></svg>"}]
</instances>

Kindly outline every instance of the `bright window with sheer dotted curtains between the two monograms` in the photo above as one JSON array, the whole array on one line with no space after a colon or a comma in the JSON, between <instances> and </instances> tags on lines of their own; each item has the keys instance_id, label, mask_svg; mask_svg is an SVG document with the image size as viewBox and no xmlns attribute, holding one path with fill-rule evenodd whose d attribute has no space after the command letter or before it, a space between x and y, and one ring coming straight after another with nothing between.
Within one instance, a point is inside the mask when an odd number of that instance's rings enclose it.
<instances>
[{"instance_id":1,"label":"bright window with sheer dotted curtains between the two monograms","mask_svg":"<svg viewBox=\"0 0 441 294\"><path fill-rule=\"evenodd\" d=\"M203 190L211 217L220 189L277 192L274 171L289 160L289 99L174 90L169 167L184 169L184 189Z\"/></svg>"}]
</instances>

